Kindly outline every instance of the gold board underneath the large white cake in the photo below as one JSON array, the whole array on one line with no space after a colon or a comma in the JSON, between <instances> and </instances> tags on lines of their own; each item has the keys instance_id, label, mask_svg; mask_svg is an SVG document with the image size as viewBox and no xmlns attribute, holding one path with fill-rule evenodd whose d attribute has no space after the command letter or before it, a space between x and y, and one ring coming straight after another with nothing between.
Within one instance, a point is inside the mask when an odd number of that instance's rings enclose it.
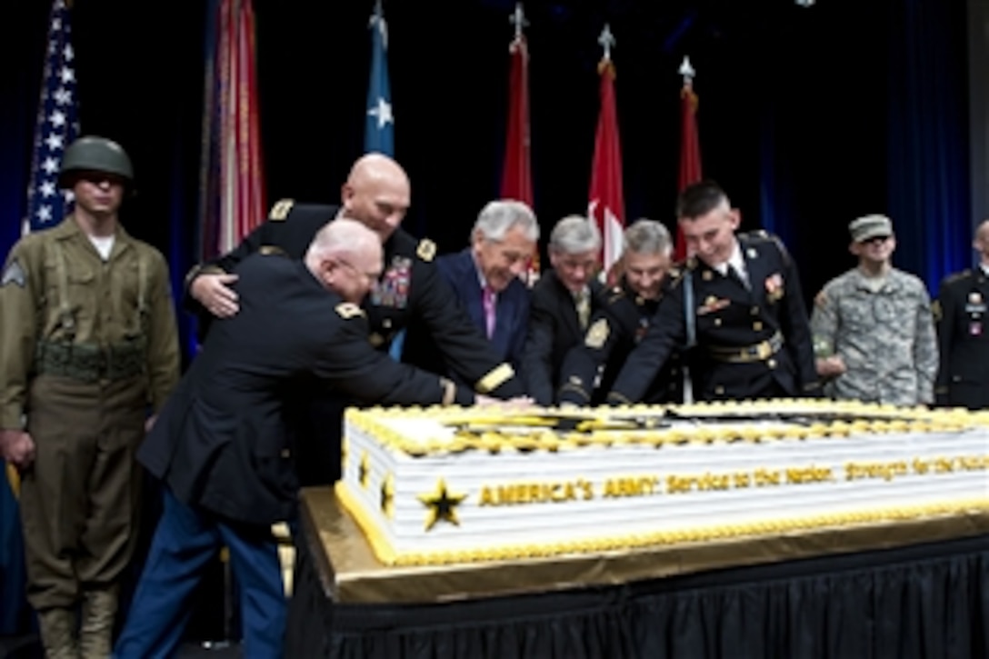
<instances>
[{"instance_id":1,"label":"gold board underneath the large white cake","mask_svg":"<svg viewBox=\"0 0 989 659\"><path fill-rule=\"evenodd\" d=\"M375 558L331 487L302 491L303 541L328 598L346 604L429 604L611 586L717 568L886 549L989 533L989 511L923 519L490 563L389 567Z\"/></svg>"}]
</instances>

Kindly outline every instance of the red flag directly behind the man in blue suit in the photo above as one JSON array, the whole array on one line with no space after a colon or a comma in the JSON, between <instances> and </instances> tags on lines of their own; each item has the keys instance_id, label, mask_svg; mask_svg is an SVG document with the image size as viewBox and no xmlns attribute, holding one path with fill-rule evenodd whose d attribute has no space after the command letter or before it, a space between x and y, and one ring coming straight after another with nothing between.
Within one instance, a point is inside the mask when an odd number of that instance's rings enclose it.
<instances>
[{"instance_id":1,"label":"red flag directly behind the man in blue suit","mask_svg":"<svg viewBox=\"0 0 989 659\"><path fill-rule=\"evenodd\" d=\"M508 47L508 130L501 170L501 198L525 202L533 208L532 160L529 141L529 46L519 33ZM529 283L539 277L539 252L529 261Z\"/></svg>"}]
</instances>

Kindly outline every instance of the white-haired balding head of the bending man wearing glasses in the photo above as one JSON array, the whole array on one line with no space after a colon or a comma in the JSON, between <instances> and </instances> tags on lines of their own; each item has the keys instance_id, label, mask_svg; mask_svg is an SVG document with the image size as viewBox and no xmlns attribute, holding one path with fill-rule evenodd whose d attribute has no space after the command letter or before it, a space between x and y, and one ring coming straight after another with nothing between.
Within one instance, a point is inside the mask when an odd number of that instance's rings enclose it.
<instances>
[{"instance_id":1,"label":"white-haired balding head of the bending man wearing glasses","mask_svg":"<svg viewBox=\"0 0 989 659\"><path fill-rule=\"evenodd\" d=\"M381 240L360 222L337 218L313 238L306 266L325 288L359 303L381 276Z\"/></svg>"}]
</instances>

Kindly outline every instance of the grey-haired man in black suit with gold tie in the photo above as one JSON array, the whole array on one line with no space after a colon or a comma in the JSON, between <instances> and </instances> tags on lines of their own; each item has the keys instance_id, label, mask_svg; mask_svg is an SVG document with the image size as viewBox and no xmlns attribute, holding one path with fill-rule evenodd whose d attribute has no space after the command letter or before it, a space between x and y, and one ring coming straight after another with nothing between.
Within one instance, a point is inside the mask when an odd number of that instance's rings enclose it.
<instances>
[{"instance_id":1,"label":"grey-haired man in black suit with gold tie","mask_svg":"<svg viewBox=\"0 0 989 659\"><path fill-rule=\"evenodd\" d=\"M553 405L564 357L584 340L591 313L604 302L594 277L600 249L597 227L580 216L564 218L550 234L553 268L532 290L522 359L526 391L539 405Z\"/></svg>"}]
</instances>

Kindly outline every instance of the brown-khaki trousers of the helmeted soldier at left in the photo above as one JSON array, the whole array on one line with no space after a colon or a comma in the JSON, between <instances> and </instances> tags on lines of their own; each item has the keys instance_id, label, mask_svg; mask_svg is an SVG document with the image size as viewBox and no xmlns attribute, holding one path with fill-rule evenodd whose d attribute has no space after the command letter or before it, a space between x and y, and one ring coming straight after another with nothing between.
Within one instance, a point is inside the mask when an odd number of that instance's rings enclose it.
<instances>
[{"instance_id":1,"label":"brown-khaki trousers of the helmeted soldier at left","mask_svg":"<svg viewBox=\"0 0 989 659\"><path fill-rule=\"evenodd\" d=\"M24 473L28 601L76 606L114 589L134 553L140 495L135 451L144 436L146 382L81 382L40 375L28 397L34 465Z\"/></svg>"}]
</instances>

